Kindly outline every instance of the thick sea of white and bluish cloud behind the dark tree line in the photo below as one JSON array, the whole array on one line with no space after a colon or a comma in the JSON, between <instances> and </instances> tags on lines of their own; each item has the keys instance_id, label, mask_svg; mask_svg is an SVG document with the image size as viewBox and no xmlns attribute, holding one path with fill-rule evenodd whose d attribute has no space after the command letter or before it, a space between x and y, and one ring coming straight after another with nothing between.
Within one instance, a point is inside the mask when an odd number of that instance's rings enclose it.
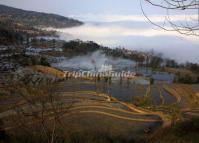
<instances>
[{"instance_id":1,"label":"thick sea of white and bluish cloud behind the dark tree line","mask_svg":"<svg viewBox=\"0 0 199 143\"><path fill-rule=\"evenodd\" d=\"M199 39L177 32L154 29L147 22L88 22L80 27L56 29L66 41L94 41L110 48L124 47L138 51L154 50L178 63L199 63Z\"/></svg>"}]
</instances>

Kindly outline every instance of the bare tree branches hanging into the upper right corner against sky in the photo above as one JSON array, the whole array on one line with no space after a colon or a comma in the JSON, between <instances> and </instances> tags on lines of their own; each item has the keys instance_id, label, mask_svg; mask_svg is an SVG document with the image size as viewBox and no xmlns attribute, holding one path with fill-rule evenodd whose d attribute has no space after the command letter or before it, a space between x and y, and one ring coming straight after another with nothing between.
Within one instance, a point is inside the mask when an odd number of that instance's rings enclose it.
<instances>
[{"instance_id":1,"label":"bare tree branches hanging into the upper right corner against sky","mask_svg":"<svg viewBox=\"0 0 199 143\"><path fill-rule=\"evenodd\" d=\"M162 22L155 22L147 14L144 7L147 3L165 11ZM140 6L143 15L153 25L166 31L199 36L199 0L140 0ZM175 14L179 12L176 20Z\"/></svg>"}]
</instances>

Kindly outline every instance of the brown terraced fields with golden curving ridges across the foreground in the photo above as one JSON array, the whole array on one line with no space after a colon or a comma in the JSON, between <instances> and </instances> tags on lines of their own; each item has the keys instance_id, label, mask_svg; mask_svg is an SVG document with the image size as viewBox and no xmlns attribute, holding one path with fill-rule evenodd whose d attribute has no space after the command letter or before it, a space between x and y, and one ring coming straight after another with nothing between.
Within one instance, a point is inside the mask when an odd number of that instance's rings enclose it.
<instances>
[{"instance_id":1,"label":"brown terraced fields with golden curving ridges across the foreground","mask_svg":"<svg viewBox=\"0 0 199 143\"><path fill-rule=\"evenodd\" d=\"M6 98L9 92L2 93L2 128L12 134L16 129L22 132L27 128L37 130L47 124L51 127L57 121L56 126L66 136L92 132L95 135L105 133L135 141L143 138L143 135L150 135L161 126L167 127L179 118L199 117L196 87L192 88L191 85L130 84L126 87L125 83L119 90L117 84L111 87L111 84L107 86L100 83L97 84L95 80L67 79L50 87L48 92L30 87L20 88L20 94L12 98ZM117 89L117 92L109 91L108 88ZM136 89L140 91L135 92ZM115 93L121 95L115 96ZM151 104L136 106L132 104L133 101L122 98L137 95L140 99L150 97Z\"/></svg>"}]
</instances>

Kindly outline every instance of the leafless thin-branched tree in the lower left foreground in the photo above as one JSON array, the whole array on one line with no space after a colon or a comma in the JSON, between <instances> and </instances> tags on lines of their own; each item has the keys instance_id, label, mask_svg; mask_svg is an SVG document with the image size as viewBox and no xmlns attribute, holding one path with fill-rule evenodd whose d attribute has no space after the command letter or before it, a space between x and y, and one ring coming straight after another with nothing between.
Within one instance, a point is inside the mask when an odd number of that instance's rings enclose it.
<instances>
[{"instance_id":1,"label":"leafless thin-branched tree in the lower left foreground","mask_svg":"<svg viewBox=\"0 0 199 143\"><path fill-rule=\"evenodd\" d=\"M57 142L61 136L59 131L67 126L61 117L72 107L72 102L62 102L62 97L52 92L50 87L16 89L23 100L23 104L14 107L16 127L30 135L36 131L47 143Z\"/></svg>"}]
</instances>

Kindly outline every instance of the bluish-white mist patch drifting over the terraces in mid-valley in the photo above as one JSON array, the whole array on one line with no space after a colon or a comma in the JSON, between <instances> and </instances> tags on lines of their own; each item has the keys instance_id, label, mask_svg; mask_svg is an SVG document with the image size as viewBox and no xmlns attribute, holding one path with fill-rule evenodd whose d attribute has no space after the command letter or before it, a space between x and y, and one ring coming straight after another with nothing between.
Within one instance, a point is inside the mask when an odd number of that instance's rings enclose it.
<instances>
[{"instance_id":1,"label":"bluish-white mist patch drifting over the terraces in mid-valley","mask_svg":"<svg viewBox=\"0 0 199 143\"><path fill-rule=\"evenodd\" d=\"M115 71L132 69L135 63L131 60L106 56L102 51L96 51L84 56L65 58L61 62L53 63L53 67L62 70L99 70L102 65L110 64Z\"/></svg>"}]
</instances>

